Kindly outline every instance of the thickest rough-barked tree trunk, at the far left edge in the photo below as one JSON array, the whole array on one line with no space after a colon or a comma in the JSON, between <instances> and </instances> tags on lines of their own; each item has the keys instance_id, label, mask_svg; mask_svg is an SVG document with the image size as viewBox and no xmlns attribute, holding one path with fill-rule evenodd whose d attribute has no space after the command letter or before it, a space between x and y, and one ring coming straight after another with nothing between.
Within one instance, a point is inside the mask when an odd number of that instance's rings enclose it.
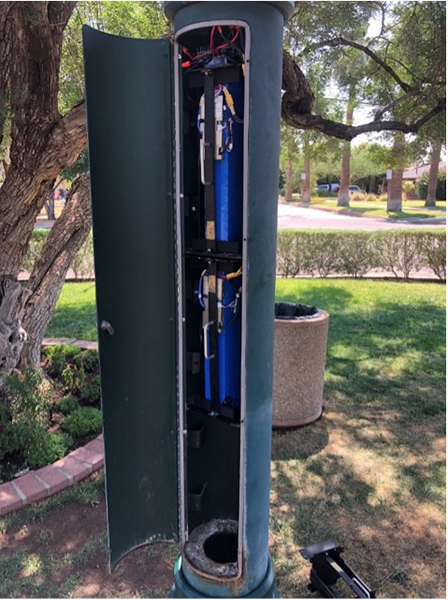
<instances>
[{"instance_id":1,"label":"thickest rough-barked tree trunk, at the far left edge","mask_svg":"<svg viewBox=\"0 0 448 600\"><path fill-rule=\"evenodd\" d=\"M64 117L58 111L62 38L75 4L0 3L0 142L6 118L11 122L10 165L0 187L0 377L20 359L26 338L21 321L24 310L31 314L33 292L34 304L39 304L41 288L19 294L22 287L16 281L37 215L57 175L74 164L87 145L84 102ZM59 251L67 259L64 247L55 245L54 254ZM54 261L61 269L65 264L56 257ZM48 260L47 266L50 269ZM34 324L25 319L32 340Z\"/></svg>"}]
</instances>

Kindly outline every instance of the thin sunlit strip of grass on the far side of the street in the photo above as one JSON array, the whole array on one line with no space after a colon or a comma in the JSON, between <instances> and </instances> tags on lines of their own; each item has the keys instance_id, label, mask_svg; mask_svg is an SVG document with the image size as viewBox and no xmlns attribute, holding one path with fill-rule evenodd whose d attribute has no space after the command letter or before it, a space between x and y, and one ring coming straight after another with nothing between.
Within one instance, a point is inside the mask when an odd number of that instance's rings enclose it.
<instances>
[{"instance_id":1,"label":"thin sunlit strip of grass on the far side of the street","mask_svg":"<svg viewBox=\"0 0 448 600\"><path fill-rule=\"evenodd\" d=\"M300 201L298 194L293 194L293 199ZM307 204L306 206L310 206ZM314 198L311 202L313 208L331 208L335 211L344 210L337 206L337 198ZM375 217L389 217L391 219L410 219L444 217L446 215L446 202L438 201L437 206L425 207L424 200L409 200L403 202L403 210L399 212L387 212L386 202L355 202L350 200L350 210Z\"/></svg>"}]
</instances>

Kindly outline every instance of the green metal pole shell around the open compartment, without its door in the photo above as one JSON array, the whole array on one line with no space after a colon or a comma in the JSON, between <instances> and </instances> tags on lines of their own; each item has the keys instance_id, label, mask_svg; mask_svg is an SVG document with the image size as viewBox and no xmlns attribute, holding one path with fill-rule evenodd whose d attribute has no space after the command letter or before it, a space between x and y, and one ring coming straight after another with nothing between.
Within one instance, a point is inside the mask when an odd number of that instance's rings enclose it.
<instances>
[{"instance_id":1,"label":"green metal pole shell around the open compartment, without its door","mask_svg":"<svg viewBox=\"0 0 448 600\"><path fill-rule=\"evenodd\" d=\"M207 578L180 558L174 597L276 597L268 552L272 367L276 274L282 33L293 2L166 2L176 33L238 20L250 29L245 436L242 439L243 570L231 584Z\"/></svg>"}]
</instances>

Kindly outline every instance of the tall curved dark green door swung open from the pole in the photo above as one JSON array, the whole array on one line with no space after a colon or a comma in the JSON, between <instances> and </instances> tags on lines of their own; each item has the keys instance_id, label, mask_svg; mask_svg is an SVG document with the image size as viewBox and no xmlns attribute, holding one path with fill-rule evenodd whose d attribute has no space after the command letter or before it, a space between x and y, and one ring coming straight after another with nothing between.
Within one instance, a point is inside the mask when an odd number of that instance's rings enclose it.
<instances>
[{"instance_id":1,"label":"tall curved dark green door swung open from the pole","mask_svg":"<svg viewBox=\"0 0 448 600\"><path fill-rule=\"evenodd\" d=\"M113 568L179 533L171 48L83 38Z\"/></svg>"}]
</instances>

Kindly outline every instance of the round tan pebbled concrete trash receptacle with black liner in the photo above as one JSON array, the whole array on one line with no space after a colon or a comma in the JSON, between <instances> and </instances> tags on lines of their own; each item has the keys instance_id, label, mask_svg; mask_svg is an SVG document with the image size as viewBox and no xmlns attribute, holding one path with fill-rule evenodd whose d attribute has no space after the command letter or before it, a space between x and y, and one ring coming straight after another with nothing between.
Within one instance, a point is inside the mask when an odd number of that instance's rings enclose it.
<instances>
[{"instance_id":1,"label":"round tan pebbled concrete trash receptacle with black liner","mask_svg":"<svg viewBox=\"0 0 448 600\"><path fill-rule=\"evenodd\" d=\"M275 305L273 427L307 425L322 414L329 315Z\"/></svg>"}]
</instances>

